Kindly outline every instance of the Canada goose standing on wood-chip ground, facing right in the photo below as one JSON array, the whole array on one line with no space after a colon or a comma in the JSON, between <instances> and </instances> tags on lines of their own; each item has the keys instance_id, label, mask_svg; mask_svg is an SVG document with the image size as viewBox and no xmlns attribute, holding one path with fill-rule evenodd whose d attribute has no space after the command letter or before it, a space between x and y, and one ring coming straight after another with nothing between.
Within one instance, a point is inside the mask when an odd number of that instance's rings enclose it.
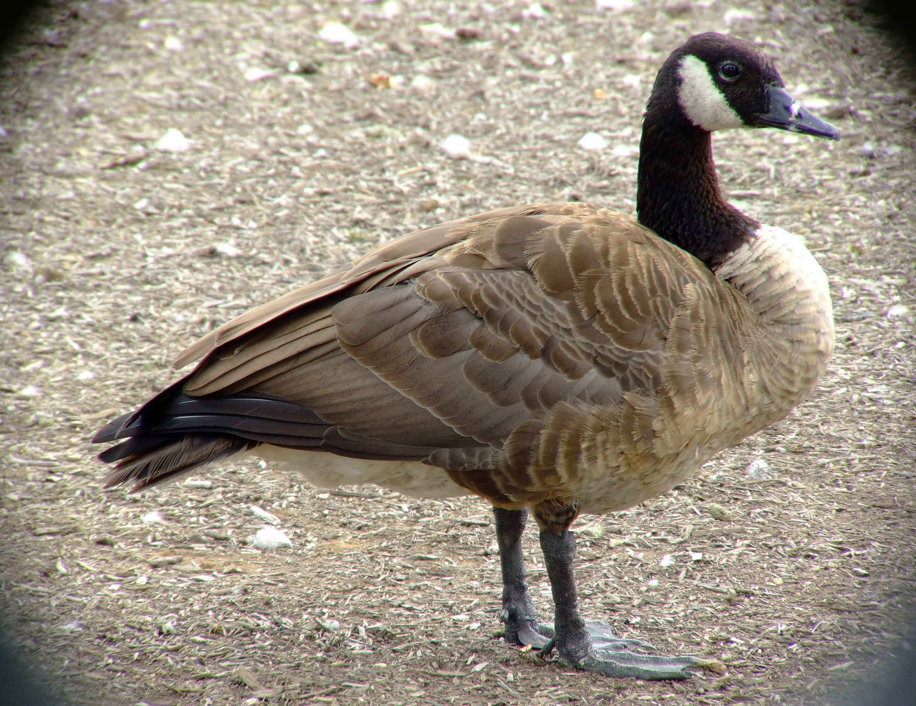
<instances>
[{"instance_id":1,"label":"Canada goose standing on wood-chip ground, facing right","mask_svg":"<svg viewBox=\"0 0 916 706\"><path fill-rule=\"evenodd\" d=\"M424 228L229 321L201 363L94 441L108 486L164 483L242 451L316 485L477 494L494 505L507 641L615 677L721 668L633 651L584 621L580 513L665 493L785 417L834 343L802 242L719 190L710 133L838 139L747 42L707 33L664 62L640 144L638 218L541 203ZM532 512L555 618L539 624L519 538Z\"/></svg>"}]
</instances>

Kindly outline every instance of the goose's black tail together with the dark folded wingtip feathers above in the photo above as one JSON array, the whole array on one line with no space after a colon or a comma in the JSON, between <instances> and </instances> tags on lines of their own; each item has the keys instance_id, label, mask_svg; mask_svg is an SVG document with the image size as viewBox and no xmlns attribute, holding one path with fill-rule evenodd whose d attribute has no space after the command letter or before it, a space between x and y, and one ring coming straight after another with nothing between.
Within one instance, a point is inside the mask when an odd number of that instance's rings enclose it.
<instances>
[{"instance_id":1,"label":"goose's black tail together with the dark folded wingtip feathers above","mask_svg":"<svg viewBox=\"0 0 916 706\"><path fill-rule=\"evenodd\" d=\"M132 483L136 492L169 483L262 443L317 451L330 426L308 407L279 397L192 397L180 389L177 383L163 390L93 437L93 443L125 439L99 454L114 463L106 488Z\"/></svg>"}]
</instances>

